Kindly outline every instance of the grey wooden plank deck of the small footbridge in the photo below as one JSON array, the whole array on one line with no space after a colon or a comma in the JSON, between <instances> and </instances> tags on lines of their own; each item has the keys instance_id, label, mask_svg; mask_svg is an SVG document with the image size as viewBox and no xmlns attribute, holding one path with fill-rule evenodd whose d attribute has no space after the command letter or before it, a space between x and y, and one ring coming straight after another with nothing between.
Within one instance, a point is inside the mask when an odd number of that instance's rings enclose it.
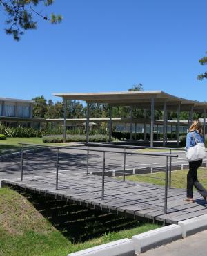
<instances>
[{"instance_id":1,"label":"grey wooden plank deck of the small footbridge","mask_svg":"<svg viewBox=\"0 0 207 256\"><path fill-rule=\"evenodd\" d=\"M105 178L104 200L101 200L101 176L86 174L59 175L56 190L55 174L50 176L25 177L2 181L3 186L15 186L63 200L94 207L99 210L123 214L126 217L152 219L164 223L177 223L207 214L206 201L195 192L195 203L186 203L186 191L172 188L168 190L168 213L164 214L164 188L149 183L120 181Z\"/></svg>"}]
</instances>

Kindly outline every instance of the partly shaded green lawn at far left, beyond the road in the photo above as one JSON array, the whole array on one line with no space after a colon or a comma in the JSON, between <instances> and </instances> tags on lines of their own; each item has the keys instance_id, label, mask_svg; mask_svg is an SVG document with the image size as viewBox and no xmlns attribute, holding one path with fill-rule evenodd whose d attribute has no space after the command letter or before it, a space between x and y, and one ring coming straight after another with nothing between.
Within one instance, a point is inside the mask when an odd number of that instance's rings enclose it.
<instances>
[{"instance_id":1,"label":"partly shaded green lawn at far left, beyond the road","mask_svg":"<svg viewBox=\"0 0 207 256\"><path fill-rule=\"evenodd\" d=\"M7 138L6 140L0 140L0 155L19 152L21 150L21 145L19 145L18 143L31 143L31 144L45 145L45 143L43 143L42 138ZM47 145L48 146L49 145L64 146L64 145L68 145L68 143L67 144L48 143Z\"/></svg>"}]
</instances>

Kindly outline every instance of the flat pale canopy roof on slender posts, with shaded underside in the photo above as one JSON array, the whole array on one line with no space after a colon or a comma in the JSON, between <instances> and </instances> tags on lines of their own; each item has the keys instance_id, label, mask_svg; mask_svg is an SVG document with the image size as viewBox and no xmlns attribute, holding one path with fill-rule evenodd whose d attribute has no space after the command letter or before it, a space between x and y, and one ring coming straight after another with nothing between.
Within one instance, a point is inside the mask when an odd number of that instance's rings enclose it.
<instances>
[{"instance_id":1,"label":"flat pale canopy roof on slender posts, with shaded underside","mask_svg":"<svg viewBox=\"0 0 207 256\"><path fill-rule=\"evenodd\" d=\"M203 112L207 107L206 102L187 100L164 91L114 91L101 93L53 93L66 100L83 100L87 103L108 103L118 106L135 106L141 109L150 109L152 98L155 99L155 109L163 109L164 102L167 102L167 109L175 111L178 104L181 104L181 111Z\"/></svg>"}]
</instances>

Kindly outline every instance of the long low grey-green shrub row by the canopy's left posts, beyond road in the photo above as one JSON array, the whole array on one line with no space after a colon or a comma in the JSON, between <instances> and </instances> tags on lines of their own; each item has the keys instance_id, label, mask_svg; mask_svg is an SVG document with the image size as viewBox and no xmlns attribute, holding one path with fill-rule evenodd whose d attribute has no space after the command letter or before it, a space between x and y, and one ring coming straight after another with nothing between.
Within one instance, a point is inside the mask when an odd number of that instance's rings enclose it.
<instances>
[{"instance_id":1,"label":"long low grey-green shrub row by the canopy's left posts, beyond road","mask_svg":"<svg viewBox=\"0 0 207 256\"><path fill-rule=\"evenodd\" d=\"M112 141L115 138L112 137ZM103 134L95 134L89 136L90 142L96 143L106 143L108 142L108 136ZM86 135L79 135L79 134L67 134L66 135L66 142L86 142ZM50 135L43 137L43 143L63 143L63 135Z\"/></svg>"}]
</instances>

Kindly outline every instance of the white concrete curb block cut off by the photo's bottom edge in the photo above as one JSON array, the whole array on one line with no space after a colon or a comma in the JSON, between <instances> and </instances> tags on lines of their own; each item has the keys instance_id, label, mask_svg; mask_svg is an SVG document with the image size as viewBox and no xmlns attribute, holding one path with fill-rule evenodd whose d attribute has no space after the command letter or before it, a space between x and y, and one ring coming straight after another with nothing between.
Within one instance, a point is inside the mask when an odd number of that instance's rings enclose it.
<instances>
[{"instance_id":1,"label":"white concrete curb block cut off by the photo's bottom edge","mask_svg":"<svg viewBox=\"0 0 207 256\"><path fill-rule=\"evenodd\" d=\"M101 244L68 256L135 256L135 246L131 239L125 238L112 241L108 244Z\"/></svg>"}]
</instances>

